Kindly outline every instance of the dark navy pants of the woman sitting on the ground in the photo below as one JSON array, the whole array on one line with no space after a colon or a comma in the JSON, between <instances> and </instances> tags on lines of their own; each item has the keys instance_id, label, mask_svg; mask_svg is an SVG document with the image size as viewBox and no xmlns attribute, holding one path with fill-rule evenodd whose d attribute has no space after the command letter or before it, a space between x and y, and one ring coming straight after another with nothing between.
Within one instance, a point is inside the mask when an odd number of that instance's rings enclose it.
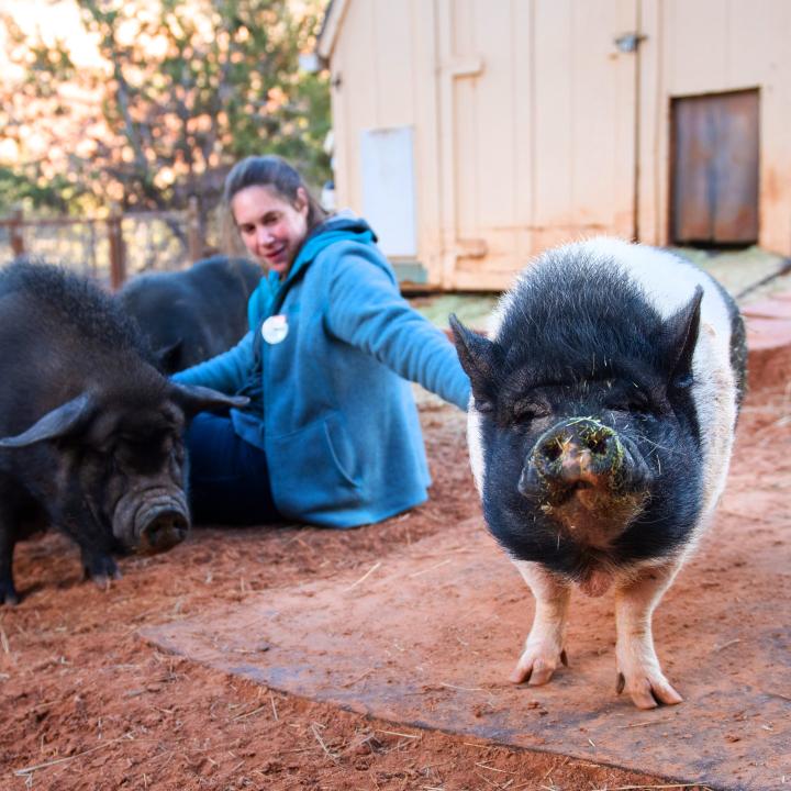
<instances>
[{"instance_id":1,"label":"dark navy pants of the woman sitting on the ground","mask_svg":"<svg viewBox=\"0 0 791 791\"><path fill-rule=\"evenodd\" d=\"M230 417L201 412L187 431L189 500L197 524L254 525L281 521L260 448Z\"/></svg>"}]
</instances>

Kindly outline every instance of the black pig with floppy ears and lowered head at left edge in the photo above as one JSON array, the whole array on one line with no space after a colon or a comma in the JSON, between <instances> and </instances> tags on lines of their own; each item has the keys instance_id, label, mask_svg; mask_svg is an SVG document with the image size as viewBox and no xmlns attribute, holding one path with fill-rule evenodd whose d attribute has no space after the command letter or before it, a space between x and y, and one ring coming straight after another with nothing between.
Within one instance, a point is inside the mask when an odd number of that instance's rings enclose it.
<instances>
[{"instance_id":1,"label":"black pig with floppy ears and lowered head at left edge","mask_svg":"<svg viewBox=\"0 0 791 791\"><path fill-rule=\"evenodd\" d=\"M244 405L169 382L109 296L44 264L0 270L0 603L15 603L15 543L53 525L87 575L114 554L163 552L190 517L181 438L190 415Z\"/></svg>"}]
</instances>

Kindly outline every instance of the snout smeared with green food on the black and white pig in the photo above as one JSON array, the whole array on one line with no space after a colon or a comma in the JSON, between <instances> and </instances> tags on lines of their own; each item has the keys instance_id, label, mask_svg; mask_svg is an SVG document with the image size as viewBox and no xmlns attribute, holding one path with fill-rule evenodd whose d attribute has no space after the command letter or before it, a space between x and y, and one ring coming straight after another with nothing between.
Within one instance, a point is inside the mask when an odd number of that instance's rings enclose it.
<instances>
[{"instance_id":1,"label":"snout smeared with green food on the black and white pig","mask_svg":"<svg viewBox=\"0 0 791 791\"><path fill-rule=\"evenodd\" d=\"M538 438L528 467L545 483L564 489L613 488L623 467L615 432L588 417L565 421ZM523 492L524 493L524 492Z\"/></svg>"}]
</instances>

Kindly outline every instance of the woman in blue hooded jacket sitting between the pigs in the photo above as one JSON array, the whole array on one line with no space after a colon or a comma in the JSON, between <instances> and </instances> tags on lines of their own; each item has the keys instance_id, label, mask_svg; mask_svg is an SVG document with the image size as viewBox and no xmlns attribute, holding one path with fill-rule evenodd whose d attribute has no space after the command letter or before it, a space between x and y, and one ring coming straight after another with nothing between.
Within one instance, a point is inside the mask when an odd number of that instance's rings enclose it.
<instances>
[{"instance_id":1,"label":"woman in blue hooded jacket sitting between the pigs","mask_svg":"<svg viewBox=\"0 0 791 791\"><path fill-rule=\"evenodd\" d=\"M431 479L405 380L466 409L453 345L401 297L368 224L327 216L282 159L239 161L223 199L268 274L242 342L174 377L250 399L190 427L196 521L353 527L423 502Z\"/></svg>"}]
</instances>

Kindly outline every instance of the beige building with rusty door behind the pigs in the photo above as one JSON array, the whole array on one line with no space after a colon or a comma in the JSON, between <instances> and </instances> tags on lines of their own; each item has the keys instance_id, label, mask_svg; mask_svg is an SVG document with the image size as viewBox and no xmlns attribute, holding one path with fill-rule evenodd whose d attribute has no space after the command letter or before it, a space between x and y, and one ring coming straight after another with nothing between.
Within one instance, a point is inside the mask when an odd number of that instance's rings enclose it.
<instances>
[{"instance_id":1,"label":"beige building with rusty door behind the pigs","mask_svg":"<svg viewBox=\"0 0 791 791\"><path fill-rule=\"evenodd\" d=\"M332 0L336 204L405 279L594 233L791 255L791 1Z\"/></svg>"}]
</instances>

